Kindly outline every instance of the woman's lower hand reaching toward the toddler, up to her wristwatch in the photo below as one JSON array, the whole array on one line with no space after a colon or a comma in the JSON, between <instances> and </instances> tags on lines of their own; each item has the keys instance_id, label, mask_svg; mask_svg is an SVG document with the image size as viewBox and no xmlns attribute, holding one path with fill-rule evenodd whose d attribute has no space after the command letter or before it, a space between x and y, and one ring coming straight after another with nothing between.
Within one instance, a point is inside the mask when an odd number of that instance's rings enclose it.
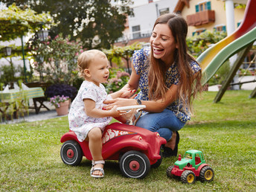
<instances>
[{"instance_id":1,"label":"woman's lower hand reaching toward the toddler, up to her wristwatch","mask_svg":"<svg viewBox=\"0 0 256 192\"><path fill-rule=\"evenodd\" d=\"M133 97L135 97L135 96L133 96ZM116 99L105 100L104 104L106 104L106 106L104 106L104 108L106 110L110 110L114 106L119 107L119 106L133 106L133 105L137 105L137 102L134 99L116 98Z\"/></svg>"}]
</instances>

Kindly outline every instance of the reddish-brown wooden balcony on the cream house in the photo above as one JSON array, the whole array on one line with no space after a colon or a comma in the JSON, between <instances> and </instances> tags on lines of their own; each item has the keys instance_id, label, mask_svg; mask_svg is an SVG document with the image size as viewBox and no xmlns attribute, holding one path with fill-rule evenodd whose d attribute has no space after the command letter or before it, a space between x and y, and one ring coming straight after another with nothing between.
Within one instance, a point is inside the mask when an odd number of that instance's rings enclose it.
<instances>
[{"instance_id":1,"label":"reddish-brown wooden balcony on the cream house","mask_svg":"<svg viewBox=\"0 0 256 192\"><path fill-rule=\"evenodd\" d=\"M215 22L214 10L204 10L187 16L188 26L199 26Z\"/></svg>"}]
</instances>

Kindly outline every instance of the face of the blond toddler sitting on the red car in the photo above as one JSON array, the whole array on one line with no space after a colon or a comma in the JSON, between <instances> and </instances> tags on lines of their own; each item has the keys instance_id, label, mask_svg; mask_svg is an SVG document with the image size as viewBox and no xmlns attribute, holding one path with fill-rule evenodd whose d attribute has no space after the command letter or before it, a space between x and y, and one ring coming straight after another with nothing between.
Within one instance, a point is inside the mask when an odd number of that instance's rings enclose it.
<instances>
[{"instance_id":1,"label":"face of the blond toddler sitting on the red car","mask_svg":"<svg viewBox=\"0 0 256 192\"><path fill-rule=\"evenodd\" d=\"M89 79L99 86L100 83L106 83L109 77L109 61L103 57L97 57L89 65Z\"/></svg>"}]
</instances>

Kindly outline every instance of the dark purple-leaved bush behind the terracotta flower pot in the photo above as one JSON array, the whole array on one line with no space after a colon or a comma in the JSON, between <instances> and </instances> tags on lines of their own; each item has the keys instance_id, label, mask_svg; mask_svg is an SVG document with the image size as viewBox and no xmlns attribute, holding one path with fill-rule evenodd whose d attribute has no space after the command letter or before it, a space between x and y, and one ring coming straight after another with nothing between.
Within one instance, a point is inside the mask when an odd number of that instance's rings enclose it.
<instances>
[{"instance_id":1,"label":"dark purple-leaved bush behind the terracotta flower pot","mask_svg":"<svg viewBox=\"0 0 256 192\"><path fill-rule=\"evenodd\" d=\"M45 91L45 96L54 97L55 95L64 95L65 97L69 97L71 98L71 100L73 100L74 97L77 95L77 89L74 88L74 86L69 86L66 84L54 84L48 86Z\"/></svg>"}]
</instances>

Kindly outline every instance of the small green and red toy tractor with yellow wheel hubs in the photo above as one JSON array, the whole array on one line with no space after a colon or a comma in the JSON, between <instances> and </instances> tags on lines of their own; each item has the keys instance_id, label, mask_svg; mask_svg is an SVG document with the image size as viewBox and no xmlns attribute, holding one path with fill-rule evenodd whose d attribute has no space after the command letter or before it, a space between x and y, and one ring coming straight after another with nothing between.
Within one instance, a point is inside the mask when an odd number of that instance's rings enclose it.
<instances>
[{"instance_id":1,"label":"small green and red toy tractor with yellow wheel hubs","mask_svg":"<svg viewBox=\"0 0 256 192\"><path fill-rule=\"evenodd\" d=\"M199 150L186 151L183 159L179 155L179 160L168 167L166 172L167 176L179 176L183 183L188 184L193 184L196 177L201 182L211 182L214 179L214 170L205 163L202 151Z\"/></svg>"}]
</instances>

